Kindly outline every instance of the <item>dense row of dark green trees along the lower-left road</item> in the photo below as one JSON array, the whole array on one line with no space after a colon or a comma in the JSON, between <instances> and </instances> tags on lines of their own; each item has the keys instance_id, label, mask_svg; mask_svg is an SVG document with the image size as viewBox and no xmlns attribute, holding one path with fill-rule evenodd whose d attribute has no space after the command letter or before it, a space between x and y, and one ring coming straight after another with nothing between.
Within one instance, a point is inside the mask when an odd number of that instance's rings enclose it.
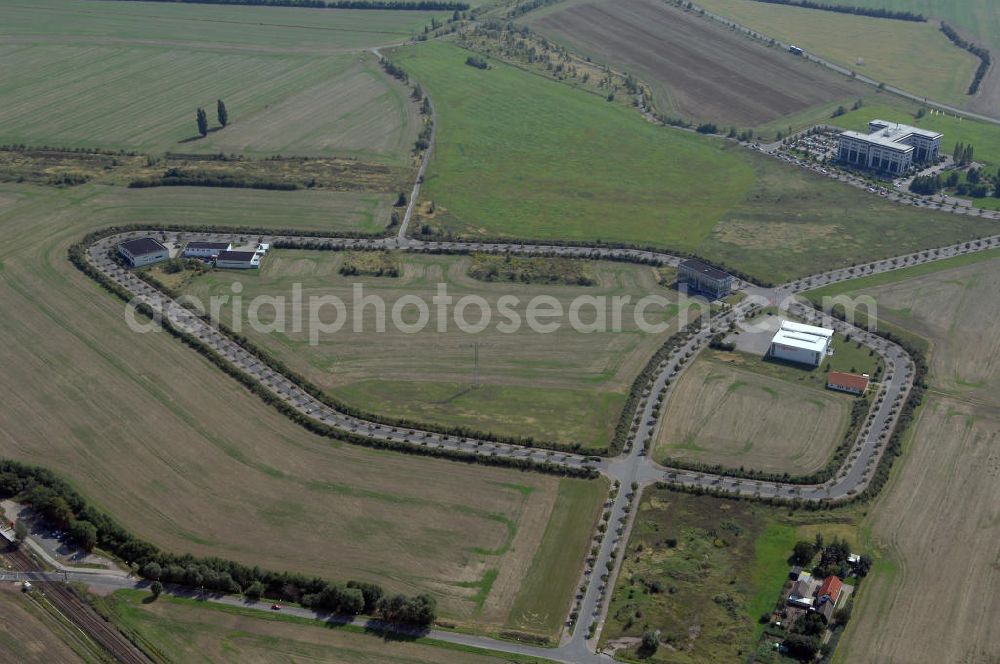
<instances>
[{"instance_id":1,"label":"dense row of dark green trees along the lower-left road","mask_svg":"<svg viewBox=\"0 0 1000 664\"><path fill-rule=\"evenodd\" d=\"M174 583L223 593L267 597L346 615L370 614L390 623L426 627L436 618L429 595L386 595L381 586L364 581L333 583L303 574L273 572L221 558L195 558L161 551L138 539L111 517L88 504L55 473L11 460L0 461L0 496L32 507L47 524L65 530L90 551L96 546L134 565L157 584ZM24 534L23 524L17 527ZM23 537L19 537L23 539ZM157 589L162 588L158 585Z\"/></svg>"}]
</instances>

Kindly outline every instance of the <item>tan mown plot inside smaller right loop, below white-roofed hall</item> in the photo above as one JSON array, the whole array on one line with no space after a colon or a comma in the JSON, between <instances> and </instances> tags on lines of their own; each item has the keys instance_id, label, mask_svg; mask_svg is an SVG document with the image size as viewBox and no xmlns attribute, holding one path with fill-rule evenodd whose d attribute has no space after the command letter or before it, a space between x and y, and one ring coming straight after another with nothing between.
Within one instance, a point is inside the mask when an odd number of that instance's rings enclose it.
<instances>
[{"instance_id":1,"label":"tan mown plot inside smaller right loop, below white-roofed hall","mask_svg":"<svg viewBox=\"0 0 1000 664\"><path fill-rule=\"evenodd\" d=\"M805 474L841 441L851 399L699 358L667 401L658 459Z\"/></svg>"}]
</instances>

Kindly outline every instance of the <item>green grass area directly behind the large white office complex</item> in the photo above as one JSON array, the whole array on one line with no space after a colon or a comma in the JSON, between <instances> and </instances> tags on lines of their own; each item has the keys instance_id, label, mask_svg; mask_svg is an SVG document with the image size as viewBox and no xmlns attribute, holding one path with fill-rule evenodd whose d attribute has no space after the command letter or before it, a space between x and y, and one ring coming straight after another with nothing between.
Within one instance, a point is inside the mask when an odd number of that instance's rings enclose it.
<instances>
[{"instance_id":1,"label":"green grass area directly behind the large white office complex","mask_svg":"<svg viewBox=\"0 0 1000 664\"><path fill-rule=\"evenodd\" d=\"M917 118L916 111L915 107L908 112L892 106L864 106L857 111L848 111L840 117L828 118L823 122L844 129L868 131L868 121L879 118L939 131L944 134L944 138L941 139L943 153L950 155L955 143L971 143L975 148L976 161L994 168L1000 166L1000 126L966 120L940 111L929 111L924 117Z\"/></svg>"}]
</instances>

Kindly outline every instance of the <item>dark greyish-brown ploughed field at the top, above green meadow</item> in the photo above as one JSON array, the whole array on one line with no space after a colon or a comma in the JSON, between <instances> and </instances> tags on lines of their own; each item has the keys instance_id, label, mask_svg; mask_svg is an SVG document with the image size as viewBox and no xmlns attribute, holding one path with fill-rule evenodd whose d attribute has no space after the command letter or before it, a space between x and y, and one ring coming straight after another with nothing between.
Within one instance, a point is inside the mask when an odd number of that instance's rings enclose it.
<instances>
[{"instance_id":1,"label":"dark greyish-brown ploughed field at the top, above green meadow","mask_svg":"<svg viewBox=\"0 0 1000 664\"><path fill-rule=\"evenodd\" d=\"M654 87L660 112L752 127L860 87L659 0L560 5L532 27Z\"/></svg>"}]
</instances>

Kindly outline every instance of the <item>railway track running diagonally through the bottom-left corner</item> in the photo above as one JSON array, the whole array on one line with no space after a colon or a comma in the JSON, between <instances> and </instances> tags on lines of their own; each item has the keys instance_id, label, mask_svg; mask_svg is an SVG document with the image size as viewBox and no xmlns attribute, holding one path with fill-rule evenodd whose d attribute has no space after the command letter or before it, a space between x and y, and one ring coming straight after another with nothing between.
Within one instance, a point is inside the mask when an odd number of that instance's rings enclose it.
<instances>
[{"instance_id":1,"label":"railway track running diagonally through the bottom-left corner","mask_svg":"<svg viewBox=\"0 0 1000 664\"><path fill-rule=\"evenodd\" d=\"M3 552L3 556L10 562L11 568L16 571L38 571L38 565L19 549L8 548ZM122 664L151 664L152 660L145 653L129 641L114 625L99 616L70 588L51 581L36 581L35 585L45 593L46 598L56 609L90 636L114 661L122 662Z\"/></svg>"}]
</instances>

